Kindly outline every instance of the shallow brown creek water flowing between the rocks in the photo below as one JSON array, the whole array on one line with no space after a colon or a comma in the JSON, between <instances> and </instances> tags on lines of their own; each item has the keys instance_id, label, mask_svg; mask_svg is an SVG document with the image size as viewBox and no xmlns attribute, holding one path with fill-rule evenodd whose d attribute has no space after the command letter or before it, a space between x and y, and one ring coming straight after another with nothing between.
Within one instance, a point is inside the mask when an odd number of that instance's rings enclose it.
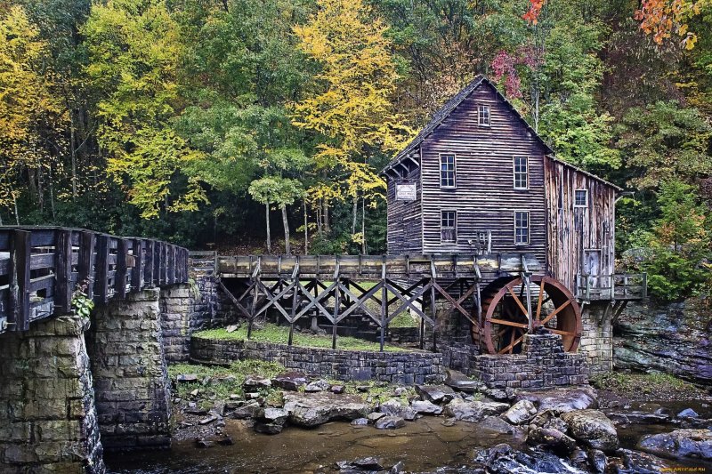
<instances>
[{"instance_id":1,"label":"shallow brown creek water flowing between the rocks","mask_svg":"<svg viewBox=\"0 0 712 474\"><path fill-rule=\"evenodd\" d=\"M635 404L630 410L654 411L654 402ZM692 407L709 418L712 409L695 402L659 402L673 414ZM620 411L626 411L620 409ZM279 435L255 434L246 422L226 420L225 431L233 446L197 448L192 440L174 441L166 451L131 454L107 454L110 473L121 474L208 474L208 473L286 473L297 474L329 471L338 461L376 456L385 465L404 462L409 471L432 471L436 468L472 466L473 452L480 447L508 443L517 447L512 435L501 434L480 423L457 422L444 426L444 418L425 416L408 422L401 430L376 430L353 427L347 422L330 422L313 430L285 428ZM671 424L619 426L622 447L635 448L645 434L675 430ZM705 462L675 462L676 465L707 468ZM705 472L701 470L699 472Z\"/></svg>"}]
</instances>

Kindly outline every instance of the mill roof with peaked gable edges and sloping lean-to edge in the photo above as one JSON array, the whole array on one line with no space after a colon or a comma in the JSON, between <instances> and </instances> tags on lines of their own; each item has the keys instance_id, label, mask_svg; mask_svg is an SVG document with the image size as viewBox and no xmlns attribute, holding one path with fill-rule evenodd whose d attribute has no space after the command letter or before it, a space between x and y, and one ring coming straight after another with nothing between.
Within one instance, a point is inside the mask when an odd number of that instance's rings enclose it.
<instances>
[{"instance_id":1,"label":"mill roof with peaked gable edges and sloping lean-to edge","mask_svg":"<svg viewBox=\"0 0 712 474\"><path fill-rule=\"evenodd\" d=\"M548 145L548 143L546 143L546 141L544 141L544 139L539 136L539 134L531 127L529 122L527 122L527 120L522 116L522 114L519 113L519 110L517 110L514 105L512 105L512 102L507 100L506 97L498 91L495 84L492 84L490 82L490 79L481 75L476 76L473 81L470 82L470 84L465 85L465 87L460 92L457 92L457 94L455 94L450 100L445 102L445 104L433 114L433 118L431 118L430 122L428 122L428 124L423 127L423 129L416 135L416 137L411 140L409 144L406 145L406 147L402 149L401 152L399 152L398 155L396 155L388 165L384 167L381 173L387 173L393 167L399 165L404 158L409 157L410 153L420 147L421 143L423 143L423 141L425 141L425 139L431 133L433 133L435 129L437 129L453 111L455 111L458 105L460 105L471 93L473 93L478 87L480 87L481 84L490 85L490 87L495 91L495 93L497 93L498 99L502 100L505 103L506 107L514 113L514 116L516 116L522 122L522 125L526 127L527 131L531 133L531 136L533 136L534 139L538 141L539 144L541 144L541 146L546 150L547 157L553 159L557 163L561 163L562 165L568 166L571 169L578 171L579 173L584 173L597 181L601 181L604 184L611 186L611 188L615 188L619 191L623 190L619 188L619 186L616 186L615 184L609 181L603 180L603 178L601 178L600 176L596 176L593 173L588 173L587 171L578 168L578 166L571 165L568 162L554 157L554 149L552 149Z\"/></svg>"}]
</instances>

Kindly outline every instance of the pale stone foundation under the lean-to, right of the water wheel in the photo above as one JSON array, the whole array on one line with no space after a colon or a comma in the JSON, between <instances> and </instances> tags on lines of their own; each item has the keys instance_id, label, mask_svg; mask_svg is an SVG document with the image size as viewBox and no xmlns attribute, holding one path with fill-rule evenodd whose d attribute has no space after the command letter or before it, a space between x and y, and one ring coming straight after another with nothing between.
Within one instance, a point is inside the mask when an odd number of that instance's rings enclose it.
<instances>
[{"instance_id":1,"label":"pale stone foundation under the lean-to, right of the water wheel","mask_svg":"<svg viewBox=\"0 0 712 474\"><path fill-rule=\"evenodd\" d=\"M613 370L612 317L613 310L607 301L593 302L583 308L578 352L586 355L592 375Z\"/></svg>"}]
</instances>

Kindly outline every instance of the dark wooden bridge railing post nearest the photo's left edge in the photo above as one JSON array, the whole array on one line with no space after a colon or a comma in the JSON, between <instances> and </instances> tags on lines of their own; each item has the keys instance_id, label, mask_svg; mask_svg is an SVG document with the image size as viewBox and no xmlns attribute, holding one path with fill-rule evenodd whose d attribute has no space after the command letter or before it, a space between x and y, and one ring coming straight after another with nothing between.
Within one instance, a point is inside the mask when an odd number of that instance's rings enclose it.
<instances>
[{"instance_id":1,"label":"dark wooden bridge railing post nearest the photo's left edge","mask_svg":"<svg viewBox=\"0 0 712 474\"><path fill-rule=\"evenodd\" d=\"M30 232L12 230L10 242L10 308L8 325L15 331L29 329Z\"/></svg>"}]
</instances>

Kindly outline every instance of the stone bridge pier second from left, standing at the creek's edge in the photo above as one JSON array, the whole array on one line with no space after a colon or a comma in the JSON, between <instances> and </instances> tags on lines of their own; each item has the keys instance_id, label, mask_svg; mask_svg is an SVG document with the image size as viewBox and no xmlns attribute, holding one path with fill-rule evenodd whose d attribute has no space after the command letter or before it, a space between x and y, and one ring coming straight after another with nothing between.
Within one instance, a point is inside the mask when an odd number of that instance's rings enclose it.
<instances>
[{"instance_id":1,"label":"stone bridge pier second from left, standing at the creek's edge","mask_svg":"<svg viewBox=\"0 0 712 474\"><path fill-rule=\"evenodd\" d=\"M109 301L94 313L87 349L104 448L170 446L158 288Z\"/></svg>"}]
</instances>

